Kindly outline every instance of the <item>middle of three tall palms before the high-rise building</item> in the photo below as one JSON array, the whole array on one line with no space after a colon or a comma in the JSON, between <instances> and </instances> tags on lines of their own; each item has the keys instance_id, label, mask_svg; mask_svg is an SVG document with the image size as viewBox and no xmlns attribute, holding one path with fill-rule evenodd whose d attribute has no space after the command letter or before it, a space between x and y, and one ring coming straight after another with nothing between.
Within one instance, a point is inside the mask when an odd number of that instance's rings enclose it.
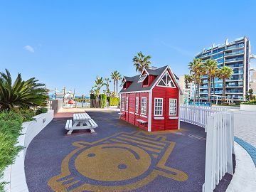
<instances>
[{"instance_id":1,"label":"middle of three tall palms before the high-rise building","mask_svg":"<svg viewBox=\"0 0 256 192\"><path fill-rule=\"evenodd\" d=\"M214 79L214 75L215 75L215 70L217 69L217 61L216 60L211 60L208 59L206 60L206 63L204 65L204 69L206 71L206 74L208 75L208 102L210 102L210 90L211 90L211 82L212 82L212 78ZM213 90L215 90L215 86L213 86ZM213 91L213 95L214 95L215 91Z\"/></svg>"}]
</instances>

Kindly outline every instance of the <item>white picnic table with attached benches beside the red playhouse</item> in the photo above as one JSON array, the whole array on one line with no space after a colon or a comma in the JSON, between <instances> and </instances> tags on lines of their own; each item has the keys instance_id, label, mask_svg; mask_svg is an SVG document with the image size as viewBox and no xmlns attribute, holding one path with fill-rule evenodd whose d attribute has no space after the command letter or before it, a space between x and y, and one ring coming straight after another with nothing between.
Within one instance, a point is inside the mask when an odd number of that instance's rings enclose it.
<instances>
[{"instance_id":1,"label":"white picnic table with attached benches beside the red playhouse","mask_svg":"<svg viewBox=\"0 0 256 192\"><path fill-rule=\"evenodd\" d=\"M98 127L97 123L86 112L73 114L73 121L69 119L65 124L65 129L68 130L67 134L71 134L73 130L77 129L90 129L90 132L94 133L94 129Z\"/></svg>"}]
</instances>

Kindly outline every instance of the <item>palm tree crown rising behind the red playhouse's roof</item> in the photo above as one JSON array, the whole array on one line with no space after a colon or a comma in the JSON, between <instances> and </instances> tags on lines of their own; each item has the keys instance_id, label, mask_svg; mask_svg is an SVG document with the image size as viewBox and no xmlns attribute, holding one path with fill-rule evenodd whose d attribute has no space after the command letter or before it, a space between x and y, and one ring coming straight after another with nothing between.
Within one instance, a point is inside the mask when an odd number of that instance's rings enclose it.
<instances>
[{"instance_id":1,"label":"palm tree crown rising behind the red playhouse's roof","mask_svg":"<svg viewBox=\"0 0 256 192\"><path fill-rule=\"evenodd\" d=\"M137 55L134 56L132 59L134 66L136 67L136 71L139 71L139 73L142 73L144 68L149 68L151 56L150 55L143 55L142 51L137 53Z\"/></svg>"}]
</instances>

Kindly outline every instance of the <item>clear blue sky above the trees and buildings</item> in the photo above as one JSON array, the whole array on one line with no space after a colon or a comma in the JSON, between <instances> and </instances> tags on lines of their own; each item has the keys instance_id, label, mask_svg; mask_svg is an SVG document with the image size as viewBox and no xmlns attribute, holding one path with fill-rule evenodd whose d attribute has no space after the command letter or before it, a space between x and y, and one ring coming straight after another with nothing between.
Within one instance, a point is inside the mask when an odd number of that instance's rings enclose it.
<instances>
[{"instance_id":1,"label":"clear blue sky above the trees and buildings","mask_svg":"<svg viewBox=\"0 0 256 192\"><path fill-rule=\"evenodd\" d=\"M255 18L254 0L0 1L0 70L88 95L97 75L136 75L140 50L177 75L225 38L248 36L256 53Z\"/></svg>"}]
</instances>

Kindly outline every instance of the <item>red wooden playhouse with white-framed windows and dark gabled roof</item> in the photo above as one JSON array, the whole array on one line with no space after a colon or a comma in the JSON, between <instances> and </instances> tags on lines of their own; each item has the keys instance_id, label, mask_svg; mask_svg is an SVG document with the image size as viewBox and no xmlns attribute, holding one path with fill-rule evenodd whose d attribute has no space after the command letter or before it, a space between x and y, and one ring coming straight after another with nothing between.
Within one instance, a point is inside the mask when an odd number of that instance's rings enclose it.
<instances>
[{"instance_id":1,"label":"red wooden playhouse with white-framed windows and dark gabled roof","mask_svg":"<svg viewBox=\"0 0 256 192\"><path fill-rule=\"evenodd\" d=\"M178 105L183 93L177 80L168 65L124 76L120 119L148 132L179 129Z\"/></svg>"}]
</instances>

